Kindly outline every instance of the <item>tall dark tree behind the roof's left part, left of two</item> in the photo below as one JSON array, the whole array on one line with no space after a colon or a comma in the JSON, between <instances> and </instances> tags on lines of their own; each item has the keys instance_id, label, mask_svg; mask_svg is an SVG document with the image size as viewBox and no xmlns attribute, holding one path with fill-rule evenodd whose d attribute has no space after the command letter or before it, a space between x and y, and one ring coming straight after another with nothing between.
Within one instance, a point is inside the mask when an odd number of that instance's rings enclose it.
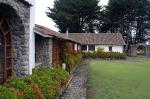
<instances>
[{"instance_id":1,"label":"tall dark tree behind the roof's left part, left of two","mask_svg":"<svg viewBox=\"0 0 150 99\"><path fill-rule=\"evenodd\" d=\"M55 0L48 8L47 16L52 18L60 32L93 32L95 20L100 15L99 0Z\"/></svg>"}]
</instances>

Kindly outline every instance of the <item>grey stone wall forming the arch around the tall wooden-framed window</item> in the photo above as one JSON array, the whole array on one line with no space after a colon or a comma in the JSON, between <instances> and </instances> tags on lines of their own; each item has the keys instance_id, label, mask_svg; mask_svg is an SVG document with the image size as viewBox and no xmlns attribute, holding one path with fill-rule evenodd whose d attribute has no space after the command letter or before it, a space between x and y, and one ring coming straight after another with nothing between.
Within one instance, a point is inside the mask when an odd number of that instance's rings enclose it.
<instances>
[{"instance_id":1,"label":"grey stone wall forming the arch around the tall wooden-framed window","mask_svg":"<svg viewBox=\"0 0 150 99\"><path fill-rule=\"evenodd\" d=\"M13 66L17 76L29 73L30 5L21 0L0 0L0 15L9 19L13 32Z\"/></svg>"}]
</instances>

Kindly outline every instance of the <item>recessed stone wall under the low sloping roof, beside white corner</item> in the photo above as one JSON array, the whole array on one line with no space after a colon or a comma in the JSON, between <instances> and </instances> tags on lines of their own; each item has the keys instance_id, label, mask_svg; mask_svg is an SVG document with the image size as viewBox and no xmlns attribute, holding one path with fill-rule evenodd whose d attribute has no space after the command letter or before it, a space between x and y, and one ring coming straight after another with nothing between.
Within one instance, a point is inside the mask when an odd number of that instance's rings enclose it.
<instances>
[{"instance_id":1,"label":"recessed stone wall under the low sloping roof, beside white corner","mask_svg":"<svg viewBox=\"0 0 150 99\"><path fill-rule=\"evenodd\" d=\"M36 35L35 59L36 66L52 65L52 39Z\"/></svg>"}]
</instances>

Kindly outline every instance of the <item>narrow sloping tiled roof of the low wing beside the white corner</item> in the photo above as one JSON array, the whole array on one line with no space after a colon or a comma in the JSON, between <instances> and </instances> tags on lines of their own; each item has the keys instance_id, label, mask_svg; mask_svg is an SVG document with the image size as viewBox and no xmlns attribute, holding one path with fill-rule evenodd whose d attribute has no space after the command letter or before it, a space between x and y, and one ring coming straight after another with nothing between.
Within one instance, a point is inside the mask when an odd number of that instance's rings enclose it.
<instances>
[{"instance_id":1,"label":"narrow sloping tiled roof of the low wing beside the white corner","mask_svg":"<svg viewBox=\"0 0 150 99\"><path fill-rule=\"evenodd\" d=\"M51 30L47 27L41 26L41 25L36 24L35 28L34 28L34 31L38 32L38 33L40 33L44 36L47 36L47 37L51 36L51 37L55 37L55 38L58 38L58 39L61 39L61 40L68 40L68 41L75 42L73 39L68 38L65 34L53 31L53 30Z\"/></svg>"}]
</instances>

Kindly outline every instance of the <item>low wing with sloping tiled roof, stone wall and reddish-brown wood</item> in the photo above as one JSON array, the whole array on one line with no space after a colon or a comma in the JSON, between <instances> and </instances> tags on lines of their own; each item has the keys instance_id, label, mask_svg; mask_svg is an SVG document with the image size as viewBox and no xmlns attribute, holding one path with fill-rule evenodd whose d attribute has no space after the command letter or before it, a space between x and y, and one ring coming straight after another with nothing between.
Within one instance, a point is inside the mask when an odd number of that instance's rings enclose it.
<instances>
[{"instance_id":1,"label":"low wing with sloping tiled roof, stone wall and reddish-brown wood","mask_svg":"<svg viewBox=\"0 0 150 99\"><path fill-rule=\"evenodd\" d=\"M70 43L74 50L74 40L65 34L55 32L44 26L35 25L35 63L36 66L61 66L63 43Z\"/></svg>"}]
</instances>

